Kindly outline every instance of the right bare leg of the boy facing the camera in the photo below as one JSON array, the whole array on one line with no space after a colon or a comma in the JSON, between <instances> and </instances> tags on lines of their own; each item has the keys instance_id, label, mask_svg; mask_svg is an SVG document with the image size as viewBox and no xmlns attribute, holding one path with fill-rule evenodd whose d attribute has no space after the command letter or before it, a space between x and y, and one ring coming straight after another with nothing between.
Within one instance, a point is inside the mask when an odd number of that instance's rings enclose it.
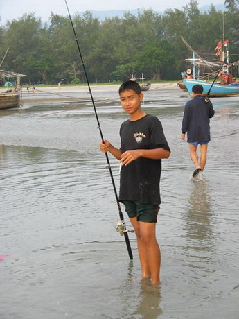
<instances>
[{"instance_id":1,"label":"right bare leg of the boy facing the camera","mask_svg":"<svg viewBox=\"0 0 239 319\"><path fill-rule=\"evenodd\" d=\"M145 249L145 256L151 273L152 284L160 284L159 271L161 254L156 239L156 223L139 222L141 240Z\"/></svg>"}]
</instances>

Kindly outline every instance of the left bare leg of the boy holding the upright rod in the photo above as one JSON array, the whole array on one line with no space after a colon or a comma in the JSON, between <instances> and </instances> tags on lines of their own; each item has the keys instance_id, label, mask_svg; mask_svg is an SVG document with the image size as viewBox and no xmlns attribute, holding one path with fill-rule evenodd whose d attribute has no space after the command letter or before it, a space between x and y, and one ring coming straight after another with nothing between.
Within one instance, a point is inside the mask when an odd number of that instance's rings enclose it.
<instances>
[{"instance_id":1,"label":"left bare leg of the boy holding the upright rod","mask_svg":"<svg viewBox=\"0 0 239 319\"><path fill-rule=\"evenodd\" d=\"M140 230L139 230L139 221L137 221L136 217L130 218L130 221L132 223L132 226L134 227L134 232L136 234L142 277L149 278L149 277L151 277L151 273L150 273L150 268L148 266L148 261L147 261L146 252L145 252L145 246L144 246L143 241L141 239L141 234L140 234Z\"/></svg>"}]
</instances>

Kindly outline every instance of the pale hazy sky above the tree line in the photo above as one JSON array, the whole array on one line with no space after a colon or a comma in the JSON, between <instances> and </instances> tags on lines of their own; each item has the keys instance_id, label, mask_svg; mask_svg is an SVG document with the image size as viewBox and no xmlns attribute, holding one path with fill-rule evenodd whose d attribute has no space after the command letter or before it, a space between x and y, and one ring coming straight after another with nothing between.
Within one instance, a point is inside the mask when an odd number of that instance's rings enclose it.
<instances>
[{"instance_id":1,"label":"pale hazy sky above the tree line","mask_svg":"<svg viewBox=\"0 0 239 319\"><path fill-rule=\"evenodd\" d=\"M67 0L71 15L86 10L107 11L107 10L134 10L149 9L163 12L168 8L181 9L189 1L186 0ZM211 3L223 4L224 0L197 0L198 6L202 7ZM57 15L67 16L67 9L64 0L0 0L1 24L6 21L18 19L24 13L35 12L36 17L47 21L51 12Z\"/></svg>"}]
</instances>

